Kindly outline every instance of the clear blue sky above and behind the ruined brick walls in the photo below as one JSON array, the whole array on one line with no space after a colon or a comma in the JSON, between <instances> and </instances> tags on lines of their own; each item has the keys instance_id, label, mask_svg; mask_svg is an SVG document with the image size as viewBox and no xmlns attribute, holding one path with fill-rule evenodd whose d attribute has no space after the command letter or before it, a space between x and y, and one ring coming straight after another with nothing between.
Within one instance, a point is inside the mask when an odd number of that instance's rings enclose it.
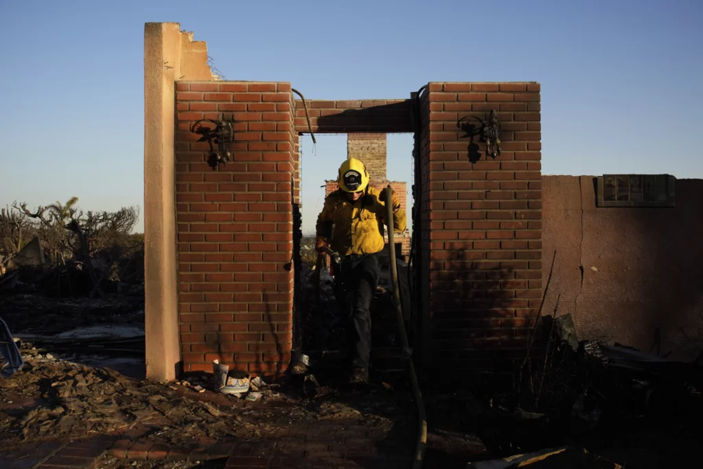
<instances>
[{"instance_id":1,"label":"clear blue sky above and behind the ruined brick walls","mask_svg":"<svg viewBox=\"0 0 703 469\"><path fill-rule=\"evenodd\" d=\"M288 81L307 98L535 80L543 174L703 177L702 1L430 5L0 0L0 204L143 207L143 27L161 21L207 41L227 79ZM345 141L303 141L305 231ZM411 148L389 137L389 179L411 180Z\"/></svg>"}]
</instances>

